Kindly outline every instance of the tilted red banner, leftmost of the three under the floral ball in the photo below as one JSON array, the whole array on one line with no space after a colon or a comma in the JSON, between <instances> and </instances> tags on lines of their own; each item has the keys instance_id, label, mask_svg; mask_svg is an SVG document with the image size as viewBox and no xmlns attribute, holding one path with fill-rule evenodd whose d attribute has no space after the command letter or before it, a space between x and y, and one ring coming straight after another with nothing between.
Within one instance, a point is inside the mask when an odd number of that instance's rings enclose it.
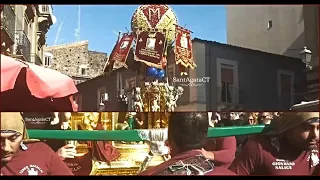
<instances>
[{"instance_id":1,"label":"tilted red banner, leftmost of the three under the floral ball","mask_svg":"<svg viewBox=\"0 0 320 180\"><path fill-rule=\"evenodd\" d=\"M133 33L126 33L123 34L121 39L117 42L115 45L113 52L110 55L110 62L113 62L113 69L119 69L121 67L126 67L126 61L128 54L131 49L132 42L134 40L134 34Z\"/></svg>"}]
</instances>

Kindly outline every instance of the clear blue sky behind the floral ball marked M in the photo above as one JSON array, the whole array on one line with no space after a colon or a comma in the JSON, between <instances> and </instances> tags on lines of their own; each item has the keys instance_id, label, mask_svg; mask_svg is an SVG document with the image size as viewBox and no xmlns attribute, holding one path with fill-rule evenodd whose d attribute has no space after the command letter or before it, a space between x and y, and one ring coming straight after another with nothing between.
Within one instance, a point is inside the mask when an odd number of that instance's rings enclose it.
<instances>
[{"instance_id":1,"label":"clear blue sky behind the floral ball marked M","mask_svg":"<svg viewBox=\"0 0 320 180\"><path fill-rule=\"evenodd\" d=\"M119 30L130 30L132 14L139 5L82 5L80 40L89 41L89 49L110 53ZM171 5L181 26L193 31L192 37L226 43L226 12L222 5ZM57 22L47 34L48 46L54 45L64 18L57 45L76 41L77 5L53 5Z\"/></svg>"}]
</instances>

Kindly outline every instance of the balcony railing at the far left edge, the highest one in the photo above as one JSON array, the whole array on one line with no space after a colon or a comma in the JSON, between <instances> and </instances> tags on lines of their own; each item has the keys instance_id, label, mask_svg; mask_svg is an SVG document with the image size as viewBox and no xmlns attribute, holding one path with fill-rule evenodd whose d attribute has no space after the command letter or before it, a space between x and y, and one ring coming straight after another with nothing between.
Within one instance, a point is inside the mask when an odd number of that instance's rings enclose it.
<instances>
[{"instance_id":1,"label":"balcony railing at the far left edge, the highest one","mask_svg":"<svg viewBox=\"0 0 320 180\"><path fill-rule=\"evenodd\" d=\"M3 5L3 11L1 11L1 31L5 31L12 42L14 42L15 19L16 15L12 6Z\"/></svg>"}]
</instances>

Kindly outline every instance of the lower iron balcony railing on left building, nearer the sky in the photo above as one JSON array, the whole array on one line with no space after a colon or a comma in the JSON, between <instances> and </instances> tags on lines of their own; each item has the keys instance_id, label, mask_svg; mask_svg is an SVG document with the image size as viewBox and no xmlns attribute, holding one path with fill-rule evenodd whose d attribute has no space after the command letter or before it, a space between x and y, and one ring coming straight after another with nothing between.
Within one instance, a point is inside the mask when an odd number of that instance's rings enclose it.
<instances>
[{"instance_id":1,"label":"lower iron balcony railing on left building, nearer the sky","mask_svg":"<svg viewBox=\"0 0 320 180\"><path fill-rule=\"evenodd\" d=\"M24 31L16 31L16 54L30 62L30 41Z\"/></svg>"}]
</instances>

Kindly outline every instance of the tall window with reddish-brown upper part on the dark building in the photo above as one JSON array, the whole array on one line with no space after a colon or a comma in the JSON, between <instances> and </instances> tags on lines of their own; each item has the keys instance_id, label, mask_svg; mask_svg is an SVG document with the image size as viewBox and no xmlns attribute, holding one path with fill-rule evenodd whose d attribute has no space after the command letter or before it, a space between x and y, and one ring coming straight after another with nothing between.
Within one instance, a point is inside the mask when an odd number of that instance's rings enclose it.
<instances>
[{"instance_id":1,"label":"tall window with reddish-brown upper part on the dark building","mask_svg":"<svg viewBox=\"0 0 320 180\"><path fill-rule=\"evenodd\" d=\"M221 66L221 101L231 103L234 91L233 66L222 64Z\"/></svg>"}]
</instances>

